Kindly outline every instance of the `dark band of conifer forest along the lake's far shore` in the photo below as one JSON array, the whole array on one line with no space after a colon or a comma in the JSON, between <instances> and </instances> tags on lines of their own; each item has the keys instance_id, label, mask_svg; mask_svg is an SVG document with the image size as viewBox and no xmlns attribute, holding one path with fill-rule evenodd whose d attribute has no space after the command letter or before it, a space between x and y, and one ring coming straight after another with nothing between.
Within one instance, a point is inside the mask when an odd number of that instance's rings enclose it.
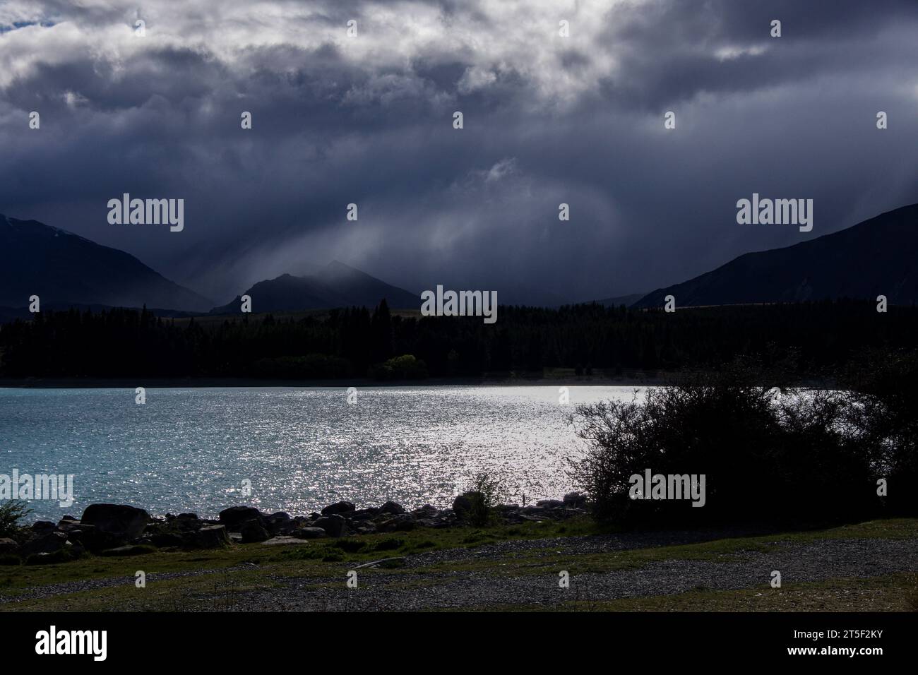
<instances>
[{"instance_id":1,"label":"dark band of conifer forest along the lake's far shore","mask_svg":"<svg viewBox=\"0 0 918 675\"><path fill-rule=\"evenodd\" d=\"M345 308L166 319L147 309L42 311L0 326L2 377L615 377L755 354L805 380L871 349L915 346L918 309L855 300L705 309L501 306L498 322Z\"/></svg>"}]
</instances>

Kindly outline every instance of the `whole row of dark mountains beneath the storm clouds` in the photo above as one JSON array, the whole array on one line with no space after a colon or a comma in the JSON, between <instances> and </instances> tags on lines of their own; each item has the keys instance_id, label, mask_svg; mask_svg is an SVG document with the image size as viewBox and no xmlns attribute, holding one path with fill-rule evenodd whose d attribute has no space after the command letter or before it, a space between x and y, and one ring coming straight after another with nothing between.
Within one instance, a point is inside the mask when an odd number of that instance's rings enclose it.
<instances>
[{"instance_id":1,"label":"whole row of dark mountains beneath the storm clouds","mask_svg":"<svg viewBox=\"0 0 918 675\"><path fill-rule=\"evenodd\" d=\"M242 295L252 298L255 313L373 308L382 298L392 309L420 307L418 294L337 260L312 275L260 281L214 307L213 300L175 284L129 253L36 220L0 214L0 321L28 316L32 295L41 298L42 309L146 305L161 316L203 314L208 309L211 314L237 314ZM504 295L501 304L516 301L512 295ZM878 295L885 295L890 304L911 304L918 301L918 204L808 242L745 253L707 274L643 297L597 302L661 307L667 295L676 298L677 307Z\"/></svg>"}]
</instances>

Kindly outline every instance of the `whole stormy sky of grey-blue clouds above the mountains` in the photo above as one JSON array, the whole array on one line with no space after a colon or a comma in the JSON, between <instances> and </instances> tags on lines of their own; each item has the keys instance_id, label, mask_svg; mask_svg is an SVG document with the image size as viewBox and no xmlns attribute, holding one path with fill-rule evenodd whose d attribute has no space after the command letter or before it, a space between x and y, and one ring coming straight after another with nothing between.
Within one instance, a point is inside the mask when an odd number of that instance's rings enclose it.
<instances>
[{"instance_id":1,"label":"whole stormy sky of grey-blue clouds above the mountains","mask_svg":"<svg viewBox=\"0 0 918 675\"><path fill-rule=\"evenodd\" d=\"M916 35L914 0L4 0L0 212L220 302L336 258L648 291L918 202ZM108 224L125 192L184 198L185 230ZM812 232L738 225L753 192L812 198Z\"/></svg>"}]
</instances>

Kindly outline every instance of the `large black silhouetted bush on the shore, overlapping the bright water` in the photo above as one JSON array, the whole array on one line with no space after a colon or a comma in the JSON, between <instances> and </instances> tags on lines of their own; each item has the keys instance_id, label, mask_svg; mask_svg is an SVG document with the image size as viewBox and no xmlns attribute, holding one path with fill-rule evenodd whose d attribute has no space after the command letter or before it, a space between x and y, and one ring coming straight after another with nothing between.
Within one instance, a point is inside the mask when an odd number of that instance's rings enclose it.
<instances>
[{"instance_id":1,"label":"large black silhouetted bush on the shore, overlapping the bright water","mask_svg":"<svg viewBox=\"0 0 918 675\"><path fill-rule=\"evenodd\" d=\"M684 525L823 523L879 511L876 467L850 426L854 396L843 391L763 387L755 367L682 377L641 401L581 406L577 434L588 442L573 477L604 521ZM704 506L631 499L630 478L705 477ZM648 490L649 491L649 490Z\"/></svg>"}]
</instances>

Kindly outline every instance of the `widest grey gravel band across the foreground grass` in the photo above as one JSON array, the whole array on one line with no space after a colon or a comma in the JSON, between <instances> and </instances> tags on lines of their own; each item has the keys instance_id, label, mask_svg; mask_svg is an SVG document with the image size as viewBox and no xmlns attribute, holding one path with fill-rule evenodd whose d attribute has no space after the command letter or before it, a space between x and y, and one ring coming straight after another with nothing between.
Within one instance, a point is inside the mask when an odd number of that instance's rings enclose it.
<instances>
[{"instance_id":1,"label":"widest grey gravel band across the foreground grass","mask_svg":"<svg viewBox=\"0 0 918 675\"><path fill-rule=\"evenodd\" d=\"M247 593L236 602L234 609L245 612L412 611L499 604L551 608L572 600L673 595L698 587L722 591L747 589L767 584L774 569L781 572L784 588L805 581L918 571L918 542L833 539L812 544L785 544L766 554L750 552L738 562L666 560L639 569L572 575L568 589L559 588L556 573L496 578L473 571L435 575L376 572L359 576L358 588L348 590L344 583L345 570L342 570L337 587L315 588L315 579L285 579L285 588ZM411 586L411 583L417 585Z\"/></svg>"}]
</instances>

